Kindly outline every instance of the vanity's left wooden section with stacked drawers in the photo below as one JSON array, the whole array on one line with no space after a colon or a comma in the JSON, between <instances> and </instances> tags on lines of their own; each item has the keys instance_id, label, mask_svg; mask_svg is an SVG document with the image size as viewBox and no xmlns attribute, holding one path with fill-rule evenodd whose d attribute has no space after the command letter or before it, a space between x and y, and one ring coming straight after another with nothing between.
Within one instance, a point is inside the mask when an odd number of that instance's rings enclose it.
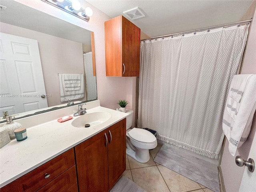
<instances>
[{"instance_id":1,"label":"vanity's left wooden section with stacked drawers","mask_svg":"<svg viewBox=\"0 0 256 192\"><path fill-rule=\"evenodd\" d=\"M14 180L0 191L78 192L74 148Z\"/></svg>"}]
</instances>

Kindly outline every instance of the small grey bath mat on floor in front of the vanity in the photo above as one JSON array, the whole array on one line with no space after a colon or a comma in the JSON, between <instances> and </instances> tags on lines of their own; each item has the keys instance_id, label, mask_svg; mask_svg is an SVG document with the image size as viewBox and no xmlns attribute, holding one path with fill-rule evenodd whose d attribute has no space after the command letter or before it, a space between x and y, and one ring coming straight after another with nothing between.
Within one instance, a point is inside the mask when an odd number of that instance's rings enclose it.
<instances>
[{"instance_id":1,"label":"small grey bath mat on floor in front of the vanity","mask_svg":"<svg viewBox=\"0 0 256 192\"><path fill-rule=\"evenodd\" d=\"M129 178L122 176L110 192L146 192Z\"/></svg>"}]
</instances>

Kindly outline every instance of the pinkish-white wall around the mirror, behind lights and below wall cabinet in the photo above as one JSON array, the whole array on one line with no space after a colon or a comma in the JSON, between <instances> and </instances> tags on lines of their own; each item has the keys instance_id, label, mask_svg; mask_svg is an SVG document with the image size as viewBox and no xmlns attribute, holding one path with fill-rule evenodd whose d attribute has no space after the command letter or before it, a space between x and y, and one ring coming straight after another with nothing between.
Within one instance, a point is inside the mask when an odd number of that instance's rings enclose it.
<instances>
[{"instance_id":1,"label":"pinkish-white wall around the mirror, behind lights and below wall cabinet","mask_svg":"<svg viewBox=\"0 0 256 192\"><path fill-rule=\"evenodd\" d=\"M104 21L110 17L98 10L88 2L80 0L81 6L89 6L93 10L90 21L86 22L80 18L72 16L54 6L51 6L40 0L16 0L22 4L85 28L94 32L95 55L96 55L96 81L98 99L100 105L115 109L118 107L116 102L120 99L126 99L126 77L106 77L105 72L105 49L104 49ZM132 83L132 82L131 82ZM132 90L134 92L135 90ZM132 101L131 101L132 102ZM130 102L130 103L131 103Z\"/></svg>"}]
</instances>

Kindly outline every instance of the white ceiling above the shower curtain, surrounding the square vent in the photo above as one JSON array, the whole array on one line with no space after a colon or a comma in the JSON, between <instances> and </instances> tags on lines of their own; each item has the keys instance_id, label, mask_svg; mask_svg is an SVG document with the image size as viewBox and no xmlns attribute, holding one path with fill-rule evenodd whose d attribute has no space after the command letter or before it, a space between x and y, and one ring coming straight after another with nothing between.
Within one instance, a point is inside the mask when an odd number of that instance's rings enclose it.
<instances>
[{"instance_id":1,"label":"white ceiling above the shower curtain, surrounding the square vent","mask_svg":"<svg viewBox=\"0 0 256 192\"><path fill-rule=\"evenodd\" d=\"M252 0L86 1L112 18L125 16L123 12L140 8L146 17L129 20L150 37L240 21L253 2Z\"/></svg>"}]
</instances>

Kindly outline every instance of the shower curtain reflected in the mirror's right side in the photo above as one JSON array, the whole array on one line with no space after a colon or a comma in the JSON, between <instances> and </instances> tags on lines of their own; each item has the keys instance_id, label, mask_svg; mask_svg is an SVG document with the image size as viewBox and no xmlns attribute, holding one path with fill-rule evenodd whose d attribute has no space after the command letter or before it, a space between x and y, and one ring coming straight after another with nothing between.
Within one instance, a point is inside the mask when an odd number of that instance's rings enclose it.
<instances>
[{"instance_id":1,"label":"shower curtain reflected in the mirror's right side","mask_svg":"<svg viewBox=\"0 0 256 192\"><path fill-rule=\"evenodd\" d=\"M97 98L96 76L93 76L92 52L84 53L84 71L87 90L87 100Z\"/></svg>"}]
</instances>

